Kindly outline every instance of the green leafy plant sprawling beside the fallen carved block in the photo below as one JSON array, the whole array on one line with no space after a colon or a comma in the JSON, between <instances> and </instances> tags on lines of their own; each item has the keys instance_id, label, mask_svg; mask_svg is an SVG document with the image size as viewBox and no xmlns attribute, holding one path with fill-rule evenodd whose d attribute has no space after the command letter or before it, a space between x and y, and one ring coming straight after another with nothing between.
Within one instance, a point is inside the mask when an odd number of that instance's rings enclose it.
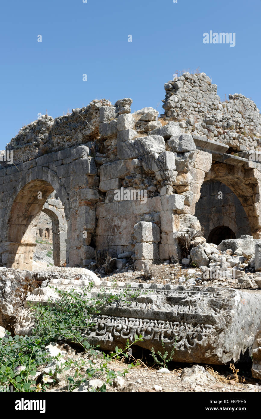
<instances>
[{"instance_id":1,"label":"green leafy plant sprawling beside the fallen carved block","mask_svg":"<svg viewBox=\"0 0 261 419\"><path fill-rule=\"evenodd\" d=\"M92 388L90 391L106 391L106 385L112 384L113 378L117 375L109 368L109 363L119 357L127 357L126 353L131 345L142 340L141 336L135 336L131 344L127 340L125 349L116 347L115 353L100 353L102 360L66 360L64 363L56 362L55 372L40 375L40 381L35 379L39 367L49 364L51 361L59 361L59 356L51 357L45 347L51 342L66 341L77 344L84 352L88 352L92 358L97 358L97 350L90 346L85 333L93 325L92 316L100 313L103 305L110 305L116 301L125 300L130 304L131 299L139 292L133 292L129 288L118 295L112 291L107 293L100 290L95 297L90 297L93 285L90 284L82 292L70 290L57 290L55 301L49 300L47 305L31 305L34 316L32 336L10 336L0 339L0 385L13 385L14 391L32 392L46 391L49 385L56 381L56 375L64 375L68 391L73 391L78 385L91 378L102 380L100 388ZM125 375L130 364L123 373ZM66 371L72 375L65 375ZM42 383L41 383L42 381Z\"/></svg>"}]
</instances>

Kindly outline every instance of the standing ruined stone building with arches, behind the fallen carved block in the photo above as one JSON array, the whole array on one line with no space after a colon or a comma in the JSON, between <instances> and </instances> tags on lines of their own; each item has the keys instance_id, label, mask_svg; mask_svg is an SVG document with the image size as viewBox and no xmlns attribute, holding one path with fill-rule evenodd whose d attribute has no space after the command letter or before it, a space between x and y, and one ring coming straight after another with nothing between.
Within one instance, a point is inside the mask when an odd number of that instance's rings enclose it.
<instances>
[{"instance_id":1,"label":"standing ruined stone building with arches, behind the fallen carved block","mask_svg":"<svg viewBox=\"0 0 261 419\"><path fill-rule=\"evenodd\" d=\"M186 73L165 88L163 119L153 108L131 114L130 98L114 106L102 99L21 129L7 145L15 165L1 162L2 265L30 269L41 211L59 237L60 266L65 259L67 266L88 266L95 249L128 252L137 269L179 257L179 234L200 229L196 203L209 180L235 193L251 234L261 236L261 164L232 154L260 145L256 106L237 95L223 106L204 73ZM228 122L234 126L224 129Z\"/></svg>"}]
</instances>

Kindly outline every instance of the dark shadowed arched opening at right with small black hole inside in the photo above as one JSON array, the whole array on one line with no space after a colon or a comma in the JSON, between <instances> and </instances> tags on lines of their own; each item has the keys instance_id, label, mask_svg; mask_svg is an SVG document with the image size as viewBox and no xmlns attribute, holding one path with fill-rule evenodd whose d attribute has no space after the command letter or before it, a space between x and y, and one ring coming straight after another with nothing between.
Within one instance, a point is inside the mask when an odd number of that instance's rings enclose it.
<instances>
[{"instance_id":1,"label":"dark shadowed arched opening at right with small black hole inside","mask_svg":"<svg viewBox=\"0 0 261 419\"><path fill-rule=\"evenodd\" d=\"M202 184L195 216L208 243L219 244L224 239L251 235L251 225L243 205L219 180L207 180Z\"/></svg>"}]
</instances>

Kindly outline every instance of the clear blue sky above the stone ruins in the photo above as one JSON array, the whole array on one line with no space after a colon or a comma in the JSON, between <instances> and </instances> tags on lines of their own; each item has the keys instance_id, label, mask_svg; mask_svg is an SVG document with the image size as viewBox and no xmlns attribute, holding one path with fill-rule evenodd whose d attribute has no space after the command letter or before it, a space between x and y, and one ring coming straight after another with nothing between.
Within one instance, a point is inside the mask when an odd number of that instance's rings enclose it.
<instances>
[{"instance_id":1,"label":"clear blue sky above the stone ruins","mask_svg":"<svg viewBox=\"0 0 261 419\"><path fill-rule=\"evenodd\" d=\"M221 100L242 93L260 109L260 16L260 0L2 2L0 150L46 109L55 118L93 99L130 97L132 111L161 113L176 70L200 67ZM203 44L210 30L235 32L235 47Z\"/></svg>"}]
</instances>

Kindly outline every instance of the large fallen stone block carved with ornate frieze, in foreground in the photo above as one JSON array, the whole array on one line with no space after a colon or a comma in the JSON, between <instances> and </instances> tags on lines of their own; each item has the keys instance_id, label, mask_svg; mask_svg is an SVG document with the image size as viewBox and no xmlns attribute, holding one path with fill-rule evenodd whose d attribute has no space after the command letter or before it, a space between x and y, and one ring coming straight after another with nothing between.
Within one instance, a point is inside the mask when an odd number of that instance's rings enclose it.
<instances>
[{"instance_id":1,"label":"large fallen stone block carved with ornate frieze, in foreground","mask_svg":"<svg viewBox=\"0 0 261 419\"><path fill-rule=\"evenodd\" d=\"M50 285L80 290L84 282L56 279ZM129 284L105 282L101 286L105 292L117 294ZM41 294L37 294L38 290ZM38 290L28 297L28 302L46 301L47 295L50 296L50 288ZM162 351L163 341L166 350L171 352L175 345L173 360L176 362L222 365L244 357L249 359L261 321L260 295L218 287L138 283L131 283L130 290L146 293L128 304L107 305L99 315L93 316L94 326L86 332L91 344L113 350L124 345L127 339L133 341L135 334L141 334L143 341L137 344L146 349L154 347ZM51 298L56 296L51 294ZM30 316L28 310L23 316ZM23 316L20 330L23 330Z\"/></svg>"}]
</instances>

